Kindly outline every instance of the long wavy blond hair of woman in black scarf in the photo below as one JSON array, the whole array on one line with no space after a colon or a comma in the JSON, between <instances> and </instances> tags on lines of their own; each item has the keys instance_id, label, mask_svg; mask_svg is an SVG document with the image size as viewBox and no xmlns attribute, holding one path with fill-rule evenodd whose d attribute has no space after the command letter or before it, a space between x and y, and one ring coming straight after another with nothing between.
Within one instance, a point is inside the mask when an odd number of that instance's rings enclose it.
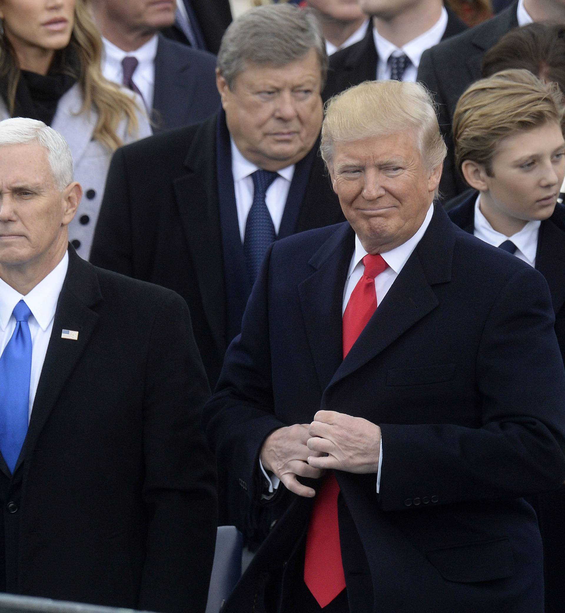
<instances>
[{"instance_id":1,"label":"long wavy blond hair of woman in black scarf","mask_svg":"<svg viewBox=\"0 0 565 613\"><path fill-rule=\"evenodd\" d=\"M70 49L78 57L79 74L73 74L73 70L65 62L65 56L69 54ZM90 17L85 0L77 0L75 24L69 45L57 51L56 55L58 57L55 59L59 59L67 72L78 80L83 95L80 113L90 113L93 108L98 113L98 121L93 132L95 140L110 151L121 147L124 143L118 136L118 126L124 118L127 120L129 134L132 136L137 134L139 129L137 113L140 112L140 109L129 94L103 77L100 69L102 39ZM20 80L20 68L6 33L0 37L0 78L7 79L8 99L6 104L12 115Z\"/></svg>"}]
</instances>

